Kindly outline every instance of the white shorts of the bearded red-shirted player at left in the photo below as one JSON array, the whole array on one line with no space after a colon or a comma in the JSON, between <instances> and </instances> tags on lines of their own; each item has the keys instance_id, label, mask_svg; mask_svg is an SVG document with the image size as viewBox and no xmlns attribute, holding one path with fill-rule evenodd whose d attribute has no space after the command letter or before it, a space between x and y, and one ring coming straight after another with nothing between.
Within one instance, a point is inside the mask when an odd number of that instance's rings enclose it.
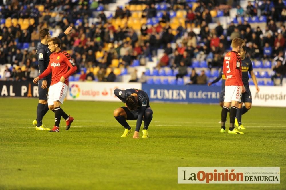
<instances>
[{"instance_id":1,"label":"white shorts of the bearded red-shirted player at left","mask_svg":"<svg viewBox=\"0 0 286 190\"><path fill-rule=\"evenodd\" d=\"M60 101L63 104L67 95L67 88L67 85L62 82L51 85L48 92L48 106L53 105L54 101Z\"/></svg>"}]
</instances>

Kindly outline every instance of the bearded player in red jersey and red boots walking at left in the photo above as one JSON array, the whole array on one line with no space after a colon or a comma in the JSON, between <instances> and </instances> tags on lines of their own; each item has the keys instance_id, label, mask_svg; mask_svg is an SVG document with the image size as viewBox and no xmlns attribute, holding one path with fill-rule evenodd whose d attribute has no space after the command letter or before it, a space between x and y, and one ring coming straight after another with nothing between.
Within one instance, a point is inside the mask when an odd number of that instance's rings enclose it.
<instances>
[{"instance_id":1,"label":"bearded player in red jersey and red boots walking at left","mask_svg":"<svg viewBox=\"0 0 286 190\"><path fill-rule=\"evenodd\" d=\"M36 84L40 79L52 73L51 86L48 92L48 106L49 109L55 111L55 126L49 132L59 132L59 123L61 116L65 119L68 130L74 121L74 118L68 116L62 109L61 104L67 95L68 78L74 72L77 67L71 56L60 49L61 40L59 38L51 38L48 40L48 48L51 51L50 62L47 69L34 78L33 82ZM70 69L69 69L70 68Z\"/></svg>"}]
</instances>

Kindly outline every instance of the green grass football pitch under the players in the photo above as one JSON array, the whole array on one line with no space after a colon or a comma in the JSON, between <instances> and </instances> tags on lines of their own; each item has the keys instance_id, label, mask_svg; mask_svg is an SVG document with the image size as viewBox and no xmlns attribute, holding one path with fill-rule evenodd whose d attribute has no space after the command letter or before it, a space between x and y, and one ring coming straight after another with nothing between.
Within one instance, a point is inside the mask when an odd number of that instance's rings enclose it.
<instances>
[{"instance_id":1,"label":"green grass football pitch under the players","mask_svg":"<svg viewBox=\"0 0 286 190\"><path fill-rule=\"evenodd\" d=\"M0 98L0 189L286 189L286 108L251 108L233 135L219 133L218 105L150 104L150 138L132 139L113 117L120 102L66 101L71 129L62 119L49 133L32 126L37 99ZM280 167L281 183L177 184L177 167L219 166Z\"/></svg>"}]
</instances>

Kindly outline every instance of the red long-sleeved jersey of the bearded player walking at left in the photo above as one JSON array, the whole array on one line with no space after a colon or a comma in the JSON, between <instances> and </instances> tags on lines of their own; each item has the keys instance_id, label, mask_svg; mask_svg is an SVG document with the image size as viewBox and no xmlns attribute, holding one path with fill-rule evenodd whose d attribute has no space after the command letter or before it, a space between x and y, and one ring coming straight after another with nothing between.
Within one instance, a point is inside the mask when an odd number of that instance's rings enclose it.
<instances>
[{"instance_id":1,"label":"red long-sleeved jersey of the bearded player walking at left","mask_svg":"<svg viewBox=\"0 0 286 190\"><path fill-rule=\"evenodd\" d=\"M62 76L65 77L65 84L68 85L69 76L76 70L76 64L71 56L67 52L60 50L59 52L50 55L49 66L41 75L39 75L39 78L41 79L52 73L51 85L58 83Z\"/></svg>"}]
</instances>

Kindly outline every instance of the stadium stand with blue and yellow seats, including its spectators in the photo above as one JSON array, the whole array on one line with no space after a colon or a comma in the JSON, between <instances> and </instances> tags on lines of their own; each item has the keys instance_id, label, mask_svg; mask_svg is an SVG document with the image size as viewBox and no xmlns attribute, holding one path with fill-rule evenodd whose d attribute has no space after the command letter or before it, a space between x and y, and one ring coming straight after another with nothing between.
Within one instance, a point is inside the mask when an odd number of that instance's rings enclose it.
<instances>
[{"instance_id":1,"label":"stadium stand with blue and yellow seats, including its spectators","mask_svg":"<svg viewBox=\"0 0 286 190\"><path fill-rule=\"evenodd\" d=\"M251 1L251 5L244 0L3 2L0 1L1 80L31 80L31 68L37 69L39 29L48 27L55 37L69 25L74 30L62 39L62 49L78 65L71 80L78 80L82 68L94 80L98 80L100 69L107 76L114 68L117 81L122 81L122 75L135 67L138 78L145 72L148 84L181 85L186 84L189 75L174 82L180 61L188 66L188 73L192 68L205 70L211 80L218 76L234 37L245 40L259 84L273 85L273 58L281 51L286 66L286 1ZM271 53L265 57L269 50ZM164 53L167 65L159 68L157 64ZM11 68L22 66L27 73L19 78L20 74L13 74Z\"/></svg>"}]
</instances>

